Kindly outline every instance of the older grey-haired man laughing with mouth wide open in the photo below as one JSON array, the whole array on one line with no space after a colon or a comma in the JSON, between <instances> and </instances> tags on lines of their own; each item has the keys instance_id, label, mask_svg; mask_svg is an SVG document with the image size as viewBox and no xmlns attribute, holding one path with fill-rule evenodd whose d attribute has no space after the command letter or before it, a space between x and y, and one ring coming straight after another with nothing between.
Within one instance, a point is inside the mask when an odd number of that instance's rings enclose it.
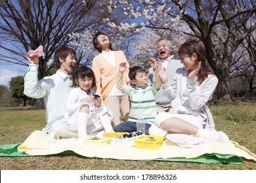
<instances>
[{"instance_id":1,"label":"older grey-haired man laughing with mouth wide open","mask_svg":"<svg viewBox=\"0 0 256 183\"><path fill-rule=\"evenodd\" d=\"M173 82L173 78L175 76L176 70L178 68L183 67L183 64L178 59L173 59L173 56L171 55L171 41L167 39L159 39L157 42L157 52L158 56L160 57L160 61L165 67L167 74L168 74L168 82L171 84ZM151 62L156 62L156 59L150 58ZM148 79L150 82L155 82L156 78L154 76L154 71L152 68L150 68L148 72ZM157 112L169 112L171 109L171 100L169 97L163 92L163 88L161 87L158 93L155 95L156 97L156 110Z\"/></svg>"}]
</instances>

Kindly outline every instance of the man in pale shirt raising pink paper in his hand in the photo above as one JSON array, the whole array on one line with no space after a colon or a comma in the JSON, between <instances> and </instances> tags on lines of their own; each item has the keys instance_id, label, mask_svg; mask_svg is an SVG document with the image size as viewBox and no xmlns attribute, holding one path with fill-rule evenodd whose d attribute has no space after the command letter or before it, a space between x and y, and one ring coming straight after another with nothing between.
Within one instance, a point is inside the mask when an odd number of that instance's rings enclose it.
<instances>
[{"instance_id":1,"label":"man in pale shirt raising pink paper in his hand","mask_svg":"<svg viewBox=\"0 0 256 183\"><path fill-rule=\"evenodd\" d=\"M46 108L46 125L43 131L54 131L60 137L68 138L77 135L77 129L69 127L62 121L66 112L66 101L72 86L71 73L75 67L75 51L63 46L54 54L54 62L58 71L54 75L38 80L38 56L27 54L30 67L24 73L24 94L39 99L43 97Z\"/></svg>"}]
</instances>

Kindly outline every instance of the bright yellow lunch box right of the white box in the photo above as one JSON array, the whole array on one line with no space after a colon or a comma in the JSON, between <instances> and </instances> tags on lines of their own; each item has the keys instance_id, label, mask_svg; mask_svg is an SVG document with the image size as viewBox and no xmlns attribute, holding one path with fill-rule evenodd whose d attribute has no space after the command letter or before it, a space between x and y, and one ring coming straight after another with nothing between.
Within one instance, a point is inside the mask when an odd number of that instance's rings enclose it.
<instances>
[{"instance_id":1,"label":"bright yellow lunch box right of the white box","mask_svg":"<svg viewBox=\"0 0 256 183\"><path fill-rule=\"evenodd\" d=\"M162 145L163 137L161 136L142 135L135 139L135 148L158 149Z\"/></svg>"}]
</instances>

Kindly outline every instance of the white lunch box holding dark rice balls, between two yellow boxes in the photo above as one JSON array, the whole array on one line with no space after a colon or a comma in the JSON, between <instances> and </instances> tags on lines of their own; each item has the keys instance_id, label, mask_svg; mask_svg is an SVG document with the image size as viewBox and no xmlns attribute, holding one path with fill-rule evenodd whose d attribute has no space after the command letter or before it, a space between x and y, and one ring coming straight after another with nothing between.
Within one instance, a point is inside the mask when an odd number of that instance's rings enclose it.
<instances>
[{"instance_id":1,"label":"white lunch box holding dark rice balls, between two yellow boxes","mask_svg":"<svg viewBox=\"0 0 256 183\"><path fill-rule=\"evenodd\" d=\"M125 133L124 135L116 135L116 137L113 137L111 139L111 144L115 144L118 146L131 147L131 146L134 146L135 139L140 136L142 136L141 132L131 132L131 133Z\"/></svg>"}]
</instances>

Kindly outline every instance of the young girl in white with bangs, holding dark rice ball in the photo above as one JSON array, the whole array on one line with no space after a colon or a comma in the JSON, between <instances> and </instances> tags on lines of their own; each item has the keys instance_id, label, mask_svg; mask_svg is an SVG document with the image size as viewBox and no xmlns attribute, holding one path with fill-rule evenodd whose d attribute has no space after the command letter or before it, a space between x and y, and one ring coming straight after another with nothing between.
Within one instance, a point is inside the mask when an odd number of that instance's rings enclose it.
<instances>
[{"instance_id":1,"label":"young girl in white with bangs, holding dark rice ball","mask_svg":"<svg viewBox=\"0 0 256 183\"><path fill-rule=\"evenodd\" d=\"M89 67L77 67L73 73L73 86L67 100L68 122L77 128L78 139L97 135L102 129L113 132L111 112L102 107L102 99L95 95L95 75Z\"/></svg>"}]
</instances>

